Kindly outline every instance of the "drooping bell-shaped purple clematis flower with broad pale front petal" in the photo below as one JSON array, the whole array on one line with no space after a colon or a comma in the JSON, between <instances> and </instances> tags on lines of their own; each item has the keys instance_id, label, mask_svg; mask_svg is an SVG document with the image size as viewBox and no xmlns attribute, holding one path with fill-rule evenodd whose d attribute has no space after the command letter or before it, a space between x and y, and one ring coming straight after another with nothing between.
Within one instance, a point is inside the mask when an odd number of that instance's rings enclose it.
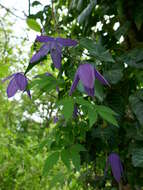
<instances>
[{"instance_id":1,"label":"drooping bell-shaped purple clematis flower with broad pale front petal","mask_svg":"<svg viewBox=\"0 0 143 190\"><path fill-rule=\"evenodd\" d=\"M81 80L86 93L89 96L94 96L95 79L99 80L104 85L110 86L107 80L94 68L94 66L90 65L89 63L80 65L75 74L69 94L72 95L73 91L78 85L79 80Z\"/></svg>"}]
</instances>

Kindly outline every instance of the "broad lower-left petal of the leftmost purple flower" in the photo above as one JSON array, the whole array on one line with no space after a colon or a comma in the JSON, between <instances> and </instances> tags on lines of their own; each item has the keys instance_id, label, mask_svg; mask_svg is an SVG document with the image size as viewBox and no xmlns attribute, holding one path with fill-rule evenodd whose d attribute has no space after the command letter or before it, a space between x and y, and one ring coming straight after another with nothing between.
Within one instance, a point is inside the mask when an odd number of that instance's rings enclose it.
<instances>
[{"instance_id":1,"label":"broad lower-left petal of the leftmost purple flower","mask_svg":"<svg viewBox=\"0 0 143 190\"><path fill-rule=\"evenodd\" d=\"M10 81L10 83L9 83L9 85L7 87L7 96L8 96L8 98L14 96L15 93L17 92L17 90L18 90L18 86L17 86L17 83L15 81L15 78L13 78Z\"/></svg>"}]
</instances>

